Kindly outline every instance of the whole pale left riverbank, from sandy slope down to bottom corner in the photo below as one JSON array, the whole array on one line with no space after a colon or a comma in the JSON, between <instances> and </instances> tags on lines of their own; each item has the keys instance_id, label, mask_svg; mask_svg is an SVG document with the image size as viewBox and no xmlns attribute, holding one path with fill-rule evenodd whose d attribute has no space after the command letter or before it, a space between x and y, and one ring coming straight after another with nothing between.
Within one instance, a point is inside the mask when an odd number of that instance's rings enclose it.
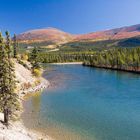
<instances>
[{"instance_id":1,"label":"whole pale left riverbank, from sandy slope down to bottom corner","mask_svg":"<svg viewBox=\"0 0 140 140\"><path fill-rule=\"evenodd\" d=\"M21 110L15 112L14 120L9 121L9 126L6 127L2 122L4 120L3 113L0 113L0 140L52 140L49 136L39 132L29 130L24 126L20 116L24 111L22 102L26 94L34 94L49 86L49 81L43 77L33 77L31 71L23 65L15 61L15 76L17 79L17 93Z\"/></svg>"}]
</instances>

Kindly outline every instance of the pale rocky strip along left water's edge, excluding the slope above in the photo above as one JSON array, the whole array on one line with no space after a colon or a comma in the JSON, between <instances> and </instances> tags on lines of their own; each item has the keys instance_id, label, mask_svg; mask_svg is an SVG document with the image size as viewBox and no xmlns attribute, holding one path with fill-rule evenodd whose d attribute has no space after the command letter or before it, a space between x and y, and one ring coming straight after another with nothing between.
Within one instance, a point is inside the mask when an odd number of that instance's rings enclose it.
<instances>
[{"instance_id":1,"label":"pale rocky strip along left water's edge, excluding the slope above","mask_svg":"<svg viewBox=\"0 0 140 140\"><path fill-rule=\"evenodd\" d=\"M46 80L45 83L47 83L47 85L44 85L45 80L43 80L43 83L41 83L40 85L32 88L32 90L27 90L26 93L35 93L36 91L40 91L43 90L44 88L47 88L49 86L49 82ZM25 91L24 91L25 92ZM23 95L24 94L20 94L20 103L22 106L22 101L23 99ZM18 112L18 115L21 115L22 110L20 112ZM0 121L3 121L4 116L3 113L0 113ZM0 140L52 140L49 136L43 136L41 133L39 132L33 132L28 130L21 119L19 119L18 121L10 121L8 128L3 125L2 123L0 123Z\"/></svg>"}]
</instances>

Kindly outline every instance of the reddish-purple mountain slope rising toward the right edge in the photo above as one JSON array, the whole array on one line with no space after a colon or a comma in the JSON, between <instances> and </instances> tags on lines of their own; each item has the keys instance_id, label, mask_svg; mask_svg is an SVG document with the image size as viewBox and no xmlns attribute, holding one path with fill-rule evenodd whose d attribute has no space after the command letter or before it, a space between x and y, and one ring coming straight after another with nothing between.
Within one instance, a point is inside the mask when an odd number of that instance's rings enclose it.
<instances>
[{"instance_id":1,"label":"reddish-purple mountain slope rising toward the right edge","mask_svg":"<svg viewBox=\"0 0 140 140\"><path fill-rule=\"evenodd\" d=\"M93 32L83 35L77 35L75 40L114 40L125 39L140 35L140 24L116 28L112 30Z\"/></svg>"}]
</instances>

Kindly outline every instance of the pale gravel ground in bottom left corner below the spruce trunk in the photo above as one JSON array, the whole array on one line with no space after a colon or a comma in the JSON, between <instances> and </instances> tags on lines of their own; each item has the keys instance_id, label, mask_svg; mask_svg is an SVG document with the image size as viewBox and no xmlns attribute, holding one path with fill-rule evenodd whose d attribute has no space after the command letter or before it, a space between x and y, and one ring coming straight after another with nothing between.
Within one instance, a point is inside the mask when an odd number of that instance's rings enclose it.
<instances>
[{"instance_id":1,"label":"pale gravel ground in bottom left corner below the spruce trunk","mask_svg":"<svg viewBox=\"0 0 140 140\"><path fill-rule=\"evenodd\" d=\"M0 120L3 121L3 113L0 113ZM0 140L52 140L44 137L41 133L28 130L21 120L10 121L8 128L0 123Z\"/></svg>"}]
</instances>

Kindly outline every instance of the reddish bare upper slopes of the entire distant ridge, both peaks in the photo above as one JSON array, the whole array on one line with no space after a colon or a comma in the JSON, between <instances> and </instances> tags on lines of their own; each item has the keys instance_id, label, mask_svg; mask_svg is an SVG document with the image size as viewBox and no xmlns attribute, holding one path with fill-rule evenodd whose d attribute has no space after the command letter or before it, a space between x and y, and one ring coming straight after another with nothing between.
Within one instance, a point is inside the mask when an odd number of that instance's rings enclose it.
<instances>
[{"instance_id":1,"label":"reddish bare upper slopes of the entire distant ridge, both peaks","mask_svg":"<svg viewBox=\"0 0 140 140\"><path fill-rule=\"evenodd\" d=\"M35 29L26 31L17 35L20 42L51 42L52 44L63 44L71 41L102 41L119 40L140 36L140 24L125 26L99 32L91 32L81 35L72 35L59 29L48 27L44 29Z\"/></svg>"}]
</instances>

